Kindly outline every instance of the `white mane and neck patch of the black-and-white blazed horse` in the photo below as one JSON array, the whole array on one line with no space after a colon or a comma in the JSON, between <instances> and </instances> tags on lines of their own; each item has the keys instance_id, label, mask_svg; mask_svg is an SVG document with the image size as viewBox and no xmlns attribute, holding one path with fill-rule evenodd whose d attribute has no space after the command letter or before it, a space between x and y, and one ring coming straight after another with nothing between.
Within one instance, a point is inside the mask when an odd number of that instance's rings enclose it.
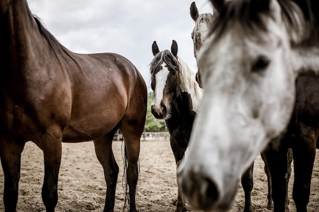
<instances>
[{"instance_id":1,"label":"white mane and neck patch of the black-and-white blazed horse","mask_svg":"<svg viewBox=\"0 0 319 212\"><path fill-rule=\"evenodd\" d=\"M195 112L201 105L203 90L196 82L196 73L181 57L178 57L178 62L181 65L180 71L180 88L181 92L189 93L192 101L192 107Z\"/></svg>"}]
</instances>

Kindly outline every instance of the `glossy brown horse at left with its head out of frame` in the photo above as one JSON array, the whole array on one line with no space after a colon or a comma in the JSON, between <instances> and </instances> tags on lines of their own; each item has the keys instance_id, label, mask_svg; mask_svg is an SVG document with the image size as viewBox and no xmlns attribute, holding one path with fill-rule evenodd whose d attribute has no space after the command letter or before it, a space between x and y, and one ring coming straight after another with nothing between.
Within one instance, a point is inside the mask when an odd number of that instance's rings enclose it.
<instances>
[{"instance_id":1,"label":"glossy brown horse at left with its head out of frame","mask_svg":"<svg viewBox=\"0 0 319 212\"><path fill-rule=\"evenodd\" d=\"M25 0L0 2L0 156L5 211L16 211L20 156L26 141L44 154L42 199L58 201L61 142L94 140L113 211L119 167L112 151L117 129L125 138L129 211L135 204L138 159L147 105L145 81L126 58L113 53L76 54L34 17Z\"/></svg>"}]
</instances>

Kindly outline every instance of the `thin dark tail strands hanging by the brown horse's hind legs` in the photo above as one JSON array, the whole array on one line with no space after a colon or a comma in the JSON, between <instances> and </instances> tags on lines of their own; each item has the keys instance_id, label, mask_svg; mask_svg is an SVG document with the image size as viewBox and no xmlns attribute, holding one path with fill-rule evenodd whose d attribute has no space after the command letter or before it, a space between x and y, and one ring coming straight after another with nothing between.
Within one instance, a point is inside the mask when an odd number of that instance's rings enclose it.
<instances>
[{"instance_id":1,"label":"thin dark tail strands hanging by the brown horse's hind legs","mask_svg":"<svg viewBox=\"0 0 319 212\"><path fill-rule=\"evenodd\" d=\"M123 148L123 144L124 144L124 148ZM128 188L128 183L127 183L127 179L126 179L128 159L127 159L126 145L125 145L125 141L124 141L123 136L122 136L122 153L124 153L124 155L122 154L123 169L124 169L123 176L122 176L122 187L123 187L123 190L125 192L125 199L124 199L124 205L123 205L123 212L124 212L126 201L129 204L129 188ZM138 172L138 179L139 179L140 178L140 160L138 160L137 172ZM139 180L138 180L138 183L139 183ZM137 190L137 187L135 188L135 193L136 193L136 190Z\"/></svg>"}]
</instances>

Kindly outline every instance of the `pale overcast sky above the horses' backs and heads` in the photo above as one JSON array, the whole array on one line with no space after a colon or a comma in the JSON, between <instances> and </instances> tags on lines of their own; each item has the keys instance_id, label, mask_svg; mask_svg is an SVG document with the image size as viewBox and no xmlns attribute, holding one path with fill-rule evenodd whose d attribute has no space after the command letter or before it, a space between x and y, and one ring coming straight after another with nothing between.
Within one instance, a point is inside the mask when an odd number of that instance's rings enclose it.
<instances>
[{"instance_id":1,"label":"pale overcast sky above the horses' backs and heads","mask_svg":"<svg viewBox=\"0 0 319 212\"><path fill-rule=\"evenodd\" d=\"M48 31L76 53L114 52L128 58L149 86L151 46L170 49L196 69L191 33L194 0L28 0ZM208 0L195 1L199 13L211 13Z\"/></svg>"}]
</instances>

